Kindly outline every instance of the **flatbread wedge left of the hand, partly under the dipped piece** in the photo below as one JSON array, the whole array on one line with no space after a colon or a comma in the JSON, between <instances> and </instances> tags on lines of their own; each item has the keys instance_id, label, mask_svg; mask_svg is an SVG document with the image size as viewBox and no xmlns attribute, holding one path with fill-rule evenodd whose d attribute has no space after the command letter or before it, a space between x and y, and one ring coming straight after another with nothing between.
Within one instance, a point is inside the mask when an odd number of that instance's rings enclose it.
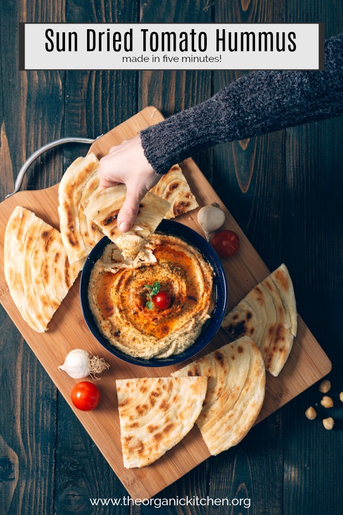
<instances>
[{"instance_id":1,"label":"flatbread wedge left of the hand, partly under the dipped piece","mask_svg":"<svg viewBox=\"0 0 343 515\"><path fill-rule=\"evenodd\" d=\"M79 260L84 262L92 248L103 237L99 227L84 215L89 197L98 188L99 160L93 152L84 158L76 159L65 171L60 182L60 231L69 263Z\"/></svg>"}]
</instances>

